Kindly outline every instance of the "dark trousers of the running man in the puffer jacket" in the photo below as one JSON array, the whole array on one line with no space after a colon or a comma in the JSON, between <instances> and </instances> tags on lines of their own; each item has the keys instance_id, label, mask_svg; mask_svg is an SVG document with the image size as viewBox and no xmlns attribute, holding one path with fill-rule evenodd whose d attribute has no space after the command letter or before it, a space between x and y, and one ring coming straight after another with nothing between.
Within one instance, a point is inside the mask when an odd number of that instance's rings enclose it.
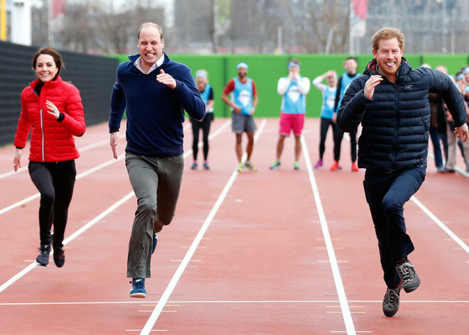
<instances>
[{"instance_id":1,"label":"dark trousers of the running man in the puffer jacket","mask_svg":"<svg viewBox=\"0 0 469 335\"><path fill-rule=\"evenodd\" d=\"M384 282L388 287L400 282L396 261L403 260L414 250L406 233L404 203L419 190L425 174L426 165L391 173L370 169L365 172L363 187L378 239Z\"/></svg>"}]
</instances>

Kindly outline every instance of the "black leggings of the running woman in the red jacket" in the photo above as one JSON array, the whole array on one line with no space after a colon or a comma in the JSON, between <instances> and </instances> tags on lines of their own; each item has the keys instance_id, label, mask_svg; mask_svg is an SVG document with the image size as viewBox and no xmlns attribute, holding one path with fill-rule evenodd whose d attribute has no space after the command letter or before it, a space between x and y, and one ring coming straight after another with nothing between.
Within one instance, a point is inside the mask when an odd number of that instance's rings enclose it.
<instances>
[{"instance_id":1,"label":"black leggings of the running woman in the red jacket","mask_svg":"<svg viewBox=\"0 0 469 335\"><path fill-rule=\"evenodd\" d=\"M39 193L39 234L41 245L50 244L50 228L54 225L54 247L63 247L68 206L75 186L75 160L40 163L29 162L29 175Z\"/></svg>"}]
</instances>

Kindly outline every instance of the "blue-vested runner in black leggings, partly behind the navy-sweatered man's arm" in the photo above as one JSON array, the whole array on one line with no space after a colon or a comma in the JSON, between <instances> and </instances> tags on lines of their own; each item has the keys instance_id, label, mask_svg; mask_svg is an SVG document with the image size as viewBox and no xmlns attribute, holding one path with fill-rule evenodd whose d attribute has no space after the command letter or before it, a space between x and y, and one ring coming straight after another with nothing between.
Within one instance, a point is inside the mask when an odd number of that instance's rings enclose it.
<instances>
[{"instance_id":1,"label":"blue-vested runner in black leggings, partly behind the navy-sweatered man's arm","mask_svg":"<svg viewBox=\"0 0 469 335\"><path fill-rule=\"evenodd\" d=\"M190 123L192 124L192 133L193 133L193 144L192 151L194 156L194 162L190 169L197 169L197 154L198 154L198 144L199 144L199 132L202 129L203 134L203 168L205 170L210 169L208 165L208 134L210 133L210 124L214 119L213 116L213 105L215 100L213 100L213 90L212 86L208 84L208 73L205 70L198 70L195 73L195 84L197 89L202 96L203 102L205 102L205 117L201 120L193 119L190 117Z\"/></svg>"}]
</instances>

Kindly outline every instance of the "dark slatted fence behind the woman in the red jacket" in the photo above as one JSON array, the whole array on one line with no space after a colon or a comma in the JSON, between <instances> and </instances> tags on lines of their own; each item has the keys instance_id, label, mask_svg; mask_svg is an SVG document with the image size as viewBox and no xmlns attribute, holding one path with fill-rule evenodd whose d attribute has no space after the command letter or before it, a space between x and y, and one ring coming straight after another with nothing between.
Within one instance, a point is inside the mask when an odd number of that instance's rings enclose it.
<instances>
[{"instance_id":1,"label":"dark slatted fence behind the woman in the red jacket","mask_svg":"<svg viewBox=\"0 0 469 335\"><path fill-rule=\"evenodd\" d=\"M36 79L31 61L38 48L0 42L0 146L14 141L21 112L21 91ZM82 96L87 126L109 119L109 102L119 61L60 50L60 76Z\"/></svg>"}]
</instances>

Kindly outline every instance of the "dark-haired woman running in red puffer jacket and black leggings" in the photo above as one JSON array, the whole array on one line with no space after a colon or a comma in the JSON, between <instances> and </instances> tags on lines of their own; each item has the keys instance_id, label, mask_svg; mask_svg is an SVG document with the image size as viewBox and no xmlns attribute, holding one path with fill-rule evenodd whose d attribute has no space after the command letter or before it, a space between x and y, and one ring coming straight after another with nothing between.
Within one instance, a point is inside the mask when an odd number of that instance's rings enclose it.
<instances>
[{"instance_id":1,"label":"dark-haired woman running in red puffer jacket and black leggings","mask_svg":"<svg viewBox=\"0 0 469 335\"><path fill-rule=\"evenodd\" d=\"M41 193L41 247L36 262L48 266L53 242L53 258L58 267L65 262L63 236L77 174L75 159L80 156L73 137L85 132L80 92L60 78L63 66L62 57L54 48L42 48L34 55L33 70L38 79L21 92L21 115L14 141L14 169L17 171L21 166L21 149L32 129L28 170ZM53 236L50 234L52 225Z\"/></svg>"}]
</instances>

